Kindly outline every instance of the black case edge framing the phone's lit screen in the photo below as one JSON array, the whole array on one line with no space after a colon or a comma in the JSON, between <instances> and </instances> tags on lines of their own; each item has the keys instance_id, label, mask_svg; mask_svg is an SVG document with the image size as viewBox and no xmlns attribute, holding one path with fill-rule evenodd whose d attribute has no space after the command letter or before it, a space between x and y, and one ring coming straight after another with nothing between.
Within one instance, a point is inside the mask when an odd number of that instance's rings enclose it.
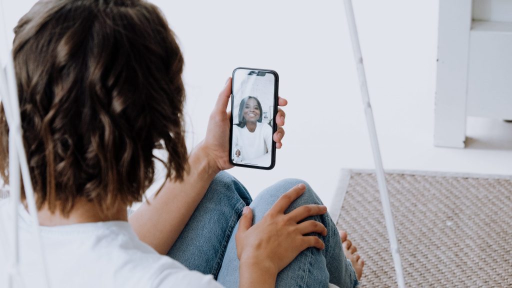
<instances>
[{"instance_id":1,"label":"black case edge framing the phone's lit screen","mask_svg":"<svg viewBox=\"0 0 512 288\"><path fill-rule=\"evenodd\" d=\"M275 116L278 114L278 100L279 100L279 75L278 72L275 72L273 70L268 69L256 69L256 68L247 68L247 67L238 67L233 70L232 78L234 80L234 72L238 69L247 69L247 70L256 70L256 71L264 71L267 73L272 73L275 77L275 83L274 83L274 111L272 111L272 154L271 154L271 162L269 167L261 167L261 166L253 166L253 165L247 165L247 164L238 164L234 163L233 159L231 159L231 150L233 146L233 108L234 108L234 102L231 100L231 117L229 119L229 124L231 125L229 128L229 162L233 166L238 167L246 167L246 168L254 168L254 169L262 169L262 170L271 170L275 166L275 141L273 139L273 135L275 131L278 130L278 124L275 122ZM233 83L234 81L231 81L231 91L233 91ZM231 92L232 93L232 92ZM231 94L231 99L233 98L233 95Z\"/></svg>"}]
</instances>

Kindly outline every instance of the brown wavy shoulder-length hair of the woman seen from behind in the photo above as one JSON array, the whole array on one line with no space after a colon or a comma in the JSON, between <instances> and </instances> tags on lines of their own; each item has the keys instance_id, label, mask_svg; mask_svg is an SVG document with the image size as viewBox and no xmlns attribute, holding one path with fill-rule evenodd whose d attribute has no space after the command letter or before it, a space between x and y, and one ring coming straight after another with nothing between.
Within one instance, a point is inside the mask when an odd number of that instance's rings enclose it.
<instances>
[{"instance_id":1,"label":"brown wavy shoulder-length hair of the woman seen from behind","mask_svg":"<svg viewBox=\"0 0 512 288\"><path fill-rule=\"evenodd\" d=\"M109 214L142 200L155 175L182 180L183 57L159 9L138 0L39 1L14 29L23 138L38 209L77 199ZM0 111L0 173L8 131Z\"/></svg>"}]
</instances>

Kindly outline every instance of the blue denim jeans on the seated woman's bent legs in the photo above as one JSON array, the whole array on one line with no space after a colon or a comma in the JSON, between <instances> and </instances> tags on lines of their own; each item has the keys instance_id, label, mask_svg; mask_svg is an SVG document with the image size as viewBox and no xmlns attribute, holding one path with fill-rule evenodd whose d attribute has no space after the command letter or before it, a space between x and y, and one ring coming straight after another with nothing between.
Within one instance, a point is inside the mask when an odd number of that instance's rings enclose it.
<instances>
[{"instance_id":1,"label":"blue denim jeans on the seated woman's bent legs","mask_svg":"<svg viewBox=\"0 0 512 288\"><path fill-rule=\"evenodd\" d=\"M226 172L210 183L205 196L167 255L190 270L213 275L226 287L239 285L239 260L234 235L242 209L250 205L254 222L262 219L274 202L299 183L298 179L282 180L265 189L252 201L245 187ZM286 213L305 204L322 204L306 184L306 192L296 199ZM336 226L329 214L313 216L325 225L327 236L320 237L324 250L308 248L301 252L277 277L276 287L355 287L357 279L352 265L345 258Z\"/></svg>"}]
</instances>

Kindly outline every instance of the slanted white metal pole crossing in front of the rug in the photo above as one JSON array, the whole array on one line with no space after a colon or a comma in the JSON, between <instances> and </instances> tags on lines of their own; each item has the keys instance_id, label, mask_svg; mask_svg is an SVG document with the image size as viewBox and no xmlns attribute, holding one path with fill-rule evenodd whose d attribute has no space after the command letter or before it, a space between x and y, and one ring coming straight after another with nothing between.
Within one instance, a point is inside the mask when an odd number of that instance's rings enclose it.
<instances>
[{"instance_id":1,"label":"slanted white metal pole crossing in front of the rug","mask_svg":"<svg viewBox=\"0 0 512 288\"><path fill-rule=\"evenodd\" d=\"M400 260L400 252L398 249L398 241L395 233L395 223L393 221L393 214L391 212L391 204L389 202L388 188L386 186L386 177L384 168L382 166L382 158L380 157L379 143L377 139L377 130L375 129L375 120L373 119L372 106L370 104L370 97L368 93L368 85L366 82L365 66L362 63L361 47L359 45L359 36L357 34L357 27L355 24L354 8L352 7L351 0L345 0L345 13L347 14L347 22L349 26L350 36L352 39L352 48L354 51L354 59L357 68L357 75L359 77L359 88L361 90L362 102L365 108L366 123L368 125L368 132L370 134L370 142L372 145L373 159L375 162L375 173L377 175L377 183L380 192L380 200L382 202L382 209L386 219L386 227L388 229L389 242L391 245L391 254L395 264L396 281L398 287L405 287L403 279L402 262Z\"/></svg>"}]
</instances>

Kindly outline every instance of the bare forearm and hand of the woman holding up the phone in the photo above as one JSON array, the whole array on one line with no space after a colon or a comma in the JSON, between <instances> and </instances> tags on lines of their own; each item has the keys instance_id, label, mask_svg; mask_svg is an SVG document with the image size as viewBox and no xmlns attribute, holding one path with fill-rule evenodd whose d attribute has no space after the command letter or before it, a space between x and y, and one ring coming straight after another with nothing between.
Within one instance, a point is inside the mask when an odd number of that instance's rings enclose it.
<instances>
[{"instance_id":1,"label":"bare forearm and hand of the woman holding up the phone","mask_svg":"<svg viewBox=\"0 0 512 288\"><path fill-rule=\"evenodd\" d=\"M182 182L166 180L158 195L142 206L129 218L139 238L152 246L160 254L166 254L203 198L211 180L221 170L232 168L229 163L230 113L226 113L231 96L231 78L219 94L212 111L205 139L190 154L189 170ZM286 99L280 98L279 105L285 106ZM278 113L278 131L274 140L281 148L284 135L284 112ZM281 120L279 120L281 119Z\"/></svg>"}]
</instances>

